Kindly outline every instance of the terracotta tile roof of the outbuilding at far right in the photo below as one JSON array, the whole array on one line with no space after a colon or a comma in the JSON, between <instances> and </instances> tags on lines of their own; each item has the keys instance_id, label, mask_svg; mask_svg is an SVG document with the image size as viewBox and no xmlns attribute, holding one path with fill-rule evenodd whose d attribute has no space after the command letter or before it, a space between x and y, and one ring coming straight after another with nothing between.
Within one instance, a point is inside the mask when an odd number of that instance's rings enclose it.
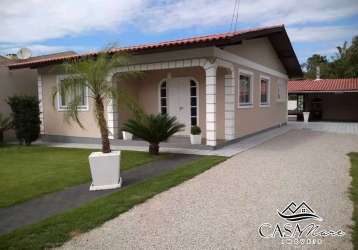
<instances>
[{"instance_id":1,"label":"terracotta tile roof of the outbuilding at far right","mask_svg":"<svg viewBox=\"0 0 358 250\"><path fill-rule=\"evenodd\" d=\"M357 91L358 78L289 81L288 92Z\"/></svg>"}]
</instances>

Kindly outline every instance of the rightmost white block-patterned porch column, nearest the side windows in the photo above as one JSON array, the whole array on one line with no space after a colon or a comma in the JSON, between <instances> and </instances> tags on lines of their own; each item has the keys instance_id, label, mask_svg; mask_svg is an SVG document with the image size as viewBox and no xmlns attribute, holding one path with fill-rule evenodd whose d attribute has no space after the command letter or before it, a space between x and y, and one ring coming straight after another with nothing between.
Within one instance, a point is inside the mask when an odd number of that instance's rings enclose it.
<instances>
[{"instance_id":1,"label":"rightmost white block-patterned porch column, nearest the side windows","mask_svg":"<svg viewBox=\"0 0 358 250\"><path fill-rule=\"evenodd\" d=\"M225 75L225 140L235 139L235 81L231 72Z\"/></svg>"}]
</instances>

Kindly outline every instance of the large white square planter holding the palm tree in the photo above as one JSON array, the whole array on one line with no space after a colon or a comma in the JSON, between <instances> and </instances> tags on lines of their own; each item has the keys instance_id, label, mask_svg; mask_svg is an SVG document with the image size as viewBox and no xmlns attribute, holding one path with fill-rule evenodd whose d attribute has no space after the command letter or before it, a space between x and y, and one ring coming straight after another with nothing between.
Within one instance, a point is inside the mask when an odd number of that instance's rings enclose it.
<instances>
[{"instance_id":1,"label":"large white square planter holding the palm tree","mask_svg":"<svg viewBox=\"0 0 358 250\"><path fill-rule=\"evenodd\" d=\"M92 175L91 191L121 187L120 157L120 151L113 151L107 154L102 152L90 154L88 160Z\"/></svg>"}]
</instances>

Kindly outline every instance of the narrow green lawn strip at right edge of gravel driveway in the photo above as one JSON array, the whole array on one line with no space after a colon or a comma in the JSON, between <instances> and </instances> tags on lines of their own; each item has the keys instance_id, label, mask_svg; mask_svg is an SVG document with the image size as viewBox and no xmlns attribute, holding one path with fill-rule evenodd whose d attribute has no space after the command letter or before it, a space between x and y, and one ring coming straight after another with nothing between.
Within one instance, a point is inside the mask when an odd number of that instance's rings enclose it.
<instances>
[{"instance_id":1,"label":"narrow green lawn strip at right edge of gravel driveway","mask_svg":"<svg viewBox=\"0 0 358 250\"><path fill-rule=\"evenodd\" d=\"M353 201L353 232L352 242L354 249L358 249L358 153L350 153L351 158L351 199Z\"/></svg>"}]
</instances>

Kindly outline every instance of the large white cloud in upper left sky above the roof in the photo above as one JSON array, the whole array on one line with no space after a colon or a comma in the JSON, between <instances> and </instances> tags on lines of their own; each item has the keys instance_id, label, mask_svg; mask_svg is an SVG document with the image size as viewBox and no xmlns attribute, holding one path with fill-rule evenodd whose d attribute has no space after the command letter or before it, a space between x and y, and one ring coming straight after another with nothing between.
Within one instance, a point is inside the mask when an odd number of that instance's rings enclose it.
<instances>
[{"instance_id":1,"label":"large white cloud in upper left sky above the roof","mask_svg":"<svg viewBox=\"0 0 358 250\"><path fill-rule=\"evenodd\" d=\"M0 42L24 43L120 28L144 0L1 0Z\"/></svg>"}]
</instances>

